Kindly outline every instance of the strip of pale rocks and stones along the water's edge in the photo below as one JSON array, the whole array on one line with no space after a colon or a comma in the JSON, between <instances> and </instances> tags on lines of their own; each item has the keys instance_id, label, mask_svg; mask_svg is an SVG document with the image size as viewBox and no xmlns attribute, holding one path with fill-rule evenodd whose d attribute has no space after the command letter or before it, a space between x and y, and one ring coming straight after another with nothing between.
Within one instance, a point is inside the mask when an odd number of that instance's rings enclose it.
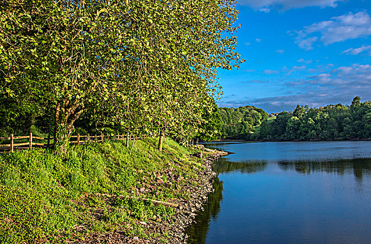
<instances>
[{"instance_id":1,"label":"strip of pale rocks and stones along the water's edge","mask_svg":"<svg viewBox=\"0 0 371 244\"><path fill-rule=\"evenodd\" d=\"M210 151L205 150L204 152L210 153ZM161 237L141 239L137 236L126 236L123 231L113 231L106 234L92 234L82 243L187 243L188 236L185 234L185 229L192 224L199 211L204 211L203 204L207 201L209 193L214 191L213 179L218 174L212 170L213 164L220 156L227 154L224 151L213 151L204 157L202 160L204 169L197 170L199 177L192 181L197 187L192 184L183 186L181 190L189 192L190 197L189 199L177 199L174 201L175 204L178 204L178 207L174 208L174 214L171 218L165 221L139 222L139 224L143 224L146 227L145 233L148 236L160 234ZM196 153L194 156L202 158L203 155L202 153ZM160 216L158 216L157 220L160 220ZM164 241L164 237L168 241Z\"/></svg>"}]
</instances>

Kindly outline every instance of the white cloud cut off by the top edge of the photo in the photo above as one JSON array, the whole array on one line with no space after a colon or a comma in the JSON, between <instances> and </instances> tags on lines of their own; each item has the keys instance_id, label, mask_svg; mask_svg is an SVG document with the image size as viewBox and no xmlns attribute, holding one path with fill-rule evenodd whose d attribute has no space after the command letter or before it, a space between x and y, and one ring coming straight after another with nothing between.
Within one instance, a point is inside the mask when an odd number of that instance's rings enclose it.
<instances>
[{"instance_id":1,"label":"white cloud cut off by the top edge of the photo","mask_svg":"<svg viewBox=\"0 0 371 244\"><path fill-rule=\"evenodd\" d=\"M290 8L305 8L308 6L335 8L340 1L344 0L239 0L239 3L268 13L271 9L288 10Z\"/></svg>"}]
</instances>

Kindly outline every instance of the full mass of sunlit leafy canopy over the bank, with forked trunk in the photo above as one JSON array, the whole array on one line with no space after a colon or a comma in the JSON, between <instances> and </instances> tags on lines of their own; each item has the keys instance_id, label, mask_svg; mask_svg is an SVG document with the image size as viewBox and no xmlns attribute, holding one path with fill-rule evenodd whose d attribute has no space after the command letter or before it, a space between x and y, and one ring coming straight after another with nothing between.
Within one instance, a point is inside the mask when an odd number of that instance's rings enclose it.
<instances>
[{"instance_id":1,"label":"full mass of sunlit leafy canopy over the bank, with forked trunk","mask_svg":"<svg viewBox=\"0 0 371 244\"><path fill-rule=\"evenodd\" d=\"M1 96L52 106L62 152L86 109L133 133L185 135L218 96L217 69L243 61L234 4L2 1Z\"/></svg>"}]
</instances>

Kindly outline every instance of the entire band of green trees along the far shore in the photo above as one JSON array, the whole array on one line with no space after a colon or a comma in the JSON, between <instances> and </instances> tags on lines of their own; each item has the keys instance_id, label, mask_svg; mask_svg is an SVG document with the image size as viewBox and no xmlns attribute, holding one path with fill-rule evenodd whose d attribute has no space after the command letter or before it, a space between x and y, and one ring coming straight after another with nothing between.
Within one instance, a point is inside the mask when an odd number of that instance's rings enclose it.
<instances>
[{"instance_id":1,"label":"entire band of green trees along the far shore","mask_svg":"<svg viewBox=\"0 0 371 244\"><path fill-rule=\"evenodd\" d=\"M350 106L337 104L294 111L269 117L252 106L221 107L222 138L248 140L367 139L371 137L371 101L356 96Z\"/></svg>"}]
</instances>

